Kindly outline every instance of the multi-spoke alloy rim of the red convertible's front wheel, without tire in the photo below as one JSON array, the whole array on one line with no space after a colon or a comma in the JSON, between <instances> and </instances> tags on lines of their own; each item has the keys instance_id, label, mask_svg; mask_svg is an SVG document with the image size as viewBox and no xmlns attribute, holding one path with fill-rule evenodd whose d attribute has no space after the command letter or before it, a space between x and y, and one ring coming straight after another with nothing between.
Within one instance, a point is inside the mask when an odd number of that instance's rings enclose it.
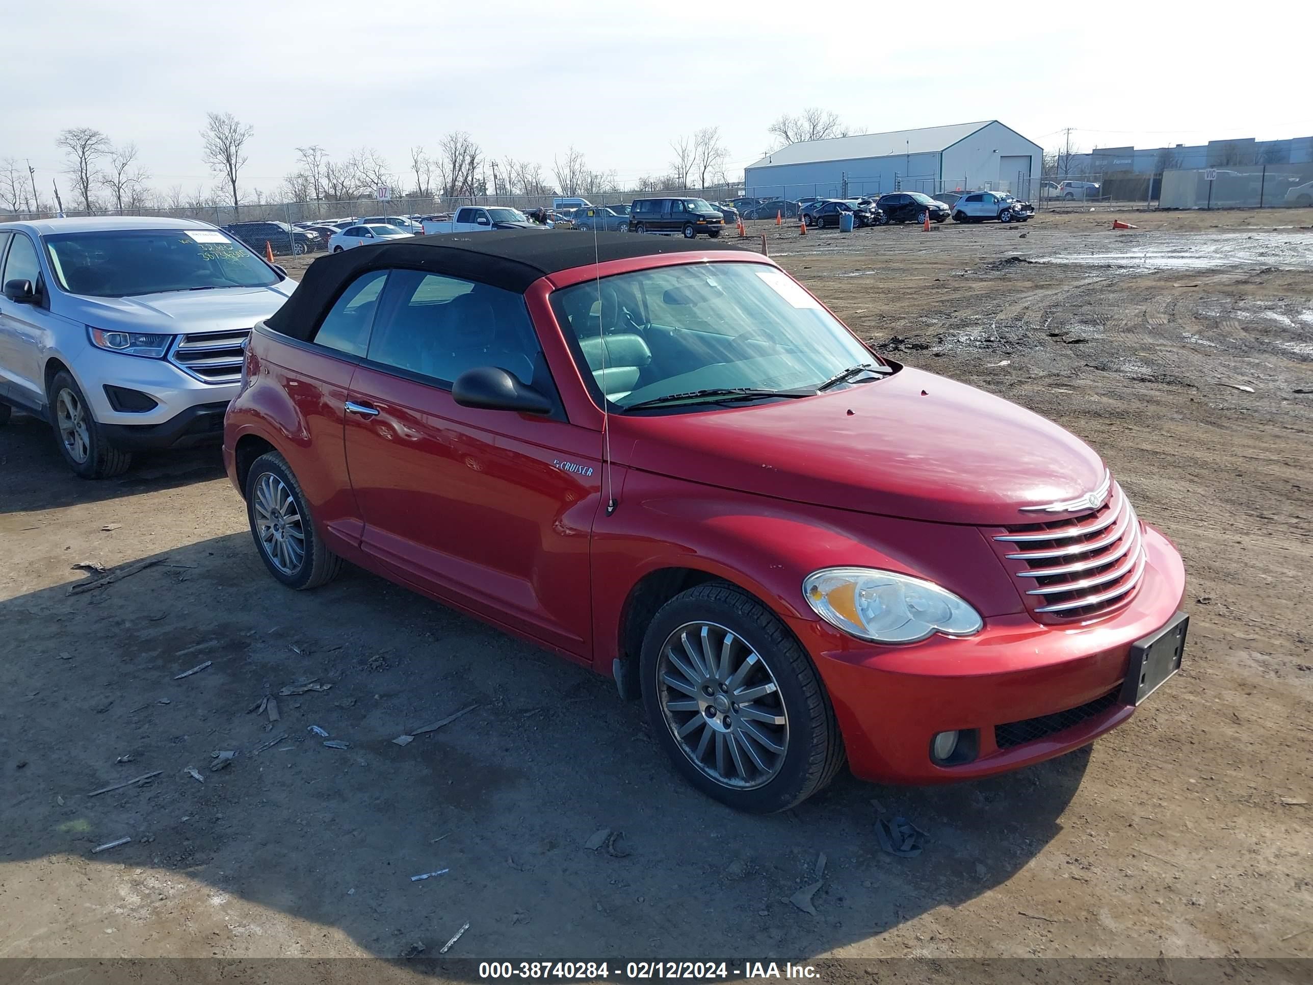
<instances>
[{"instance_id":1,"label":"multi-spoke alloy rim of the red convertible's front wheel, without tire","mask_svg":"<svg viewBox=\"0 0 1313 985\"><path fill-rule=\"evenodd\" d=\"M780 772L789 747L784 699L746 640L716 623L685 623L662 644L656 688L676 745L709 779L754 789Z\"/></svg>"}]
</instances>

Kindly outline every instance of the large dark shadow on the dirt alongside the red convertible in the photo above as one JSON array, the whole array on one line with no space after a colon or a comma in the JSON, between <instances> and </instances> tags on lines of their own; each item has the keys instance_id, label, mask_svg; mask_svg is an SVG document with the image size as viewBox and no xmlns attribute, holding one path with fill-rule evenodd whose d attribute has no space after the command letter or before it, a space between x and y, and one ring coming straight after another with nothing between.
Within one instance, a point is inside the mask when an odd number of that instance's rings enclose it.
<instances>
[{"instance_id":1,"label":"large dark shadow on the dirt alongside the red convertible","mask_svg":"<svg viewBox=\"0 0 1313 985\"><path fill-rule=\"evenodd\" d=\"M373 575L291 592L246 533L142 559L104 588L0 602L0 877L53 935L29 951L104 940L108 894L138 900L113 923L125 953L181 909L150 950L225 953L232 927L284 914L398 961L466 922L452 957L807 957L1007 881L1061 830L1087 762L934 789L844 774L784 814L737 814L675 774L608 680ZM331 690L278 696L307 678ZM253 711L267 695L277 722ZM219 750L236 755L211 772ZM874 822L895 816L926 831L920 856L880 850ZM62 868L17 879L29 860ZM83 939L25 896L75 869L77 906L102 914L79 918ZM814 913L790 902L815 881ZM305 925L268 932L305 952Z\"/></svg>"}]
</instances>

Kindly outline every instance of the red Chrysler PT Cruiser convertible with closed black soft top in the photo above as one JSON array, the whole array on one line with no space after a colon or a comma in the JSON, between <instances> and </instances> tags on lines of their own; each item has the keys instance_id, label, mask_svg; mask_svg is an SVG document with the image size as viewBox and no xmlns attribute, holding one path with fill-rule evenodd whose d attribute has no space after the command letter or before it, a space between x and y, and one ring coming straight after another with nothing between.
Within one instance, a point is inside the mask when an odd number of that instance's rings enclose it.
<instances>
[{"instance_id":1,"label":"red Chrysler PT Cruiser convertible with closed black soft top","mask_svg":"<svg viewBox=\"0 0 1313 985\"><path fill-rule=\"evenodd\" d=\"M743 810L847 759L1060 755L1180 666L1184 571L1058 426L871 352L768 259L624 234L316 260L225 458L269 573L343 559L612 675Z\"/></svg>"}]
</instances>

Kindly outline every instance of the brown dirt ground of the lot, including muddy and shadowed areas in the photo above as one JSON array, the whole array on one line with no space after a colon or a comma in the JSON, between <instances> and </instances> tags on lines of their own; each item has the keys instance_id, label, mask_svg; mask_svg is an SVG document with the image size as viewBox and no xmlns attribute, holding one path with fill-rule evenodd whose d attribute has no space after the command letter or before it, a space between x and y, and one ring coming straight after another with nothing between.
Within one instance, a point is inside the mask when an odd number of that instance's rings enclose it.
<instances>
[{"instance_id":1,"label":"brown dirt ground of the lot, including muddy and shadowed areas","mask_svg":"<svg viewBox=\"0 0 1313 985\"><path fill-rule=\"evenodd\" d=\"M884 352L1088 440L1184 554L1182 674L982 783L730 813L609 682L358 570L278 587L217 450L83 482L14 416L0 957L395 959L466 922L453 957L1313 955L1313 213L1127 218L754 230ZM331 690L249 711L305 678ZM893 816L919 858L880 851Z\"/></svg>"}]
</instances>

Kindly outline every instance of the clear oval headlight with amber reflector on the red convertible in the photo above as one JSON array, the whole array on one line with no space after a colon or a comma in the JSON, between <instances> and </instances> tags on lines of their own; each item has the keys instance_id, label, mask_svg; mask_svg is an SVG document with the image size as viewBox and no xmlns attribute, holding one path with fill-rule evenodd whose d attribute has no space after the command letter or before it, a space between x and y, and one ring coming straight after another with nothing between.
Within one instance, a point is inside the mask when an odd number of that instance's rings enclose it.
<instances>
[{"instance_id":1,"label":"clear oval headlight with amber reflector on the red convertible","mask_svg":"<svg viewBox=\"0 0 1313 985\"><path fill-rule=\"evenodd\" d=\"M985 623L951 591L872 567L826 567L802 582L807 604L859 640L914 644L934 633L972 636Z\"/></svg>"}]
</instances>

